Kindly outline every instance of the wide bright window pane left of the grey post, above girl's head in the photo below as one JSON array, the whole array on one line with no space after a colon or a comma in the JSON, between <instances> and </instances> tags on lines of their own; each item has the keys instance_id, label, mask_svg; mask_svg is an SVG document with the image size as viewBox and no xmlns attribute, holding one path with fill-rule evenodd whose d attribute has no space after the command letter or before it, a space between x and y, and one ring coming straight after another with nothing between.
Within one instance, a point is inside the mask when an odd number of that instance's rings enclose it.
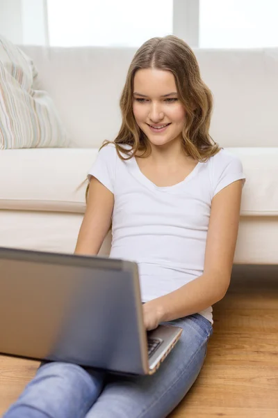
<instances>
[{"instance_id":1,"label":"wide bright window pane left of the grey post, above girl's head","mask_svg":"<svg viewBox=\"0 0 278 418\"><path fill-rule=\"evenodd\" d=\"M139 47L172 33L172 0L48 0L49 45Z\"/></svg>"}]
</instances>

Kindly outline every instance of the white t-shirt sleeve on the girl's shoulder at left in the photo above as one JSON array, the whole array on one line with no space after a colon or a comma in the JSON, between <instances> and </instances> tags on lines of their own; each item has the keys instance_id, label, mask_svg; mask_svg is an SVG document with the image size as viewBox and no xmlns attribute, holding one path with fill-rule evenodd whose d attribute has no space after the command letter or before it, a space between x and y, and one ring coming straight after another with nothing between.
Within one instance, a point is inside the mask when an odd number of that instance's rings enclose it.
<instances>
[{"instance_id":1,"label":"white t-shirt sleeve on the girl's shoulder at left","mask_svg":"<svg viewBox=\"0 0 278 418\"><path fill-rule=\"evenodd\" d=\"M114 193L117 152L115 146L106 145L99 150L97 158L88 172L88 180L97 178L108 190Z\"/></svg>"}]
</instances>

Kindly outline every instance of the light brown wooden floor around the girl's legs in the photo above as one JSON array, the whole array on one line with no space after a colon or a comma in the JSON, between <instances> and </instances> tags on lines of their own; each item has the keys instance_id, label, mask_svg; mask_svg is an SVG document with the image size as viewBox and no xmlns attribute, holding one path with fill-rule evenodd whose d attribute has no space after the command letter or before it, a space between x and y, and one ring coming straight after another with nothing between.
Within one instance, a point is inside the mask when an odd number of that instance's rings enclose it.
<instances>
[{"instance_id":1,"label":"light brown wooden floor around the girl's legs","mask_svg":"<svg viewBox=\"0 0 278 418\"><path fill-rule=\"evenodd\" d=\"M278 265L234 266L214 320L202 372L170 417L277 418ZM0 356L0 415L37 367Z\"/></svg>"}]
</instances>

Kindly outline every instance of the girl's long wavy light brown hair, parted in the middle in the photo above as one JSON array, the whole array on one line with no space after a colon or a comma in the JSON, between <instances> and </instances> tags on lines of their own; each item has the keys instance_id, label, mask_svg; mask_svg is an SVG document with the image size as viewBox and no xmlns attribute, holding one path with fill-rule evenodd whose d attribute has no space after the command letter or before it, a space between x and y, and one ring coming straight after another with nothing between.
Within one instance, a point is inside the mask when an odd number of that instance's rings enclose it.
<instances>
[{"instance_id":1,"label":"girl's long wavy light brown hair, parted in the middle","mask_svg":"<svg viewBox=\"0 0 278 418\"><path fill-rule=\"evenodd\" d=\"M151 153L149 140L140 130L133 115L134 76L136 71L146 68L167 70L174 75L179 100L186 109L181 137L187 155L194 160L205 162L218 153L220 147L208 133L213 109L211 91L202 81L193 50L186 42L173 35L147 40L134 55L120 98L120 131L114 141L104 141L101 148L107 144L115 144L117 155L122 160L129 160L138 155L138 151L140 157L147 157ZM129 147L126 148L125 145Z\"/></svg>"}]
</instances>

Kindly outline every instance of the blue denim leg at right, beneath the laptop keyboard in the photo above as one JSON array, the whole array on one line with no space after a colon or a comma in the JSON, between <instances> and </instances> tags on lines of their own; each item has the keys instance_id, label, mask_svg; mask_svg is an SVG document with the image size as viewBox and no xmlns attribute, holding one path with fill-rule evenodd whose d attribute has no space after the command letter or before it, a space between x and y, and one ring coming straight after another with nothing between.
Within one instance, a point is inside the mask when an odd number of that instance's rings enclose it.
<instances>
[{"instance_id":1,"label":"blue denim leg at right, beneath the laptop keyboard","mask_svg":"<svg viewBox=\"0 0 278 418\"><path fill-rule=\"evenodd\" d=\"M181 339L153 376L110 376L86 418L165 418L195 382L206 356L211 323L199 314L171 322Z\"/></svg>"}]
</instances>

